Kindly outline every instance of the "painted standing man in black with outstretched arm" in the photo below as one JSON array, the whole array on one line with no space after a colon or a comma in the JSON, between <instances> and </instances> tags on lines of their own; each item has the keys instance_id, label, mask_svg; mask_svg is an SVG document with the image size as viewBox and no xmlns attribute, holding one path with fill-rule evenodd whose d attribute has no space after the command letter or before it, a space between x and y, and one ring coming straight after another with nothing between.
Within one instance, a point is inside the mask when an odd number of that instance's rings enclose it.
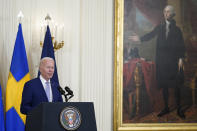
<instances>
[{"instance_id":1,"label":"painted standing man in black with outstretched arm","mask_svg":"<svg viewBox=\"0 0 197 131\"><path fill-rule=\"evenodd\" d=\"M182 32L173 19L174 8L167 5L164 8L164 21L153 31L142 37L130 36L133 41L148 41L155 36L156 41L156 78L158 87L163 91L164 109L158 114L161 117L170 112L168 107L169 88L175 89L177 114L185 118L180 106L180 88L183 86L183 58L185 54Z\"/></svg>"}]
</instances>

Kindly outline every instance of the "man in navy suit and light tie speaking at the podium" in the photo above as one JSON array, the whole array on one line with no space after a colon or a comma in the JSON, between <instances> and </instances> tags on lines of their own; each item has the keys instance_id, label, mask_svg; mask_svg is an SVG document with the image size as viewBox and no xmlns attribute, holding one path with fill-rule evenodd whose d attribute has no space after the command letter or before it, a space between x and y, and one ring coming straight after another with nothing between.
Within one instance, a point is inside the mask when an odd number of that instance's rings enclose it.
<instances>
[{"instance_id":1,"label":"man in navy suit and light tie speaking at the podium","mask_svg":"<svg viewBox=\"0 0 197 131\"><path fill-rule=\"evenodd\" d=\"M40 61L40 76L25 83L21 113L27 114L41 102L62 102L58 84L51 80L54 73L54 60L44 57Z\"/></svg>"}]
</instances>

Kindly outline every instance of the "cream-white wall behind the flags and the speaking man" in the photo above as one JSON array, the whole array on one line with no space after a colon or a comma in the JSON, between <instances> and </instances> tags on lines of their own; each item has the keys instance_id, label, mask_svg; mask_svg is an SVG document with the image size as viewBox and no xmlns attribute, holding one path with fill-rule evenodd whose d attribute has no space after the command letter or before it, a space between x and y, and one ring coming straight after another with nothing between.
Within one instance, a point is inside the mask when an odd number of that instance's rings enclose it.
<instances>
[{"instance_id":1,"label":"cream-white wall behind the flags and the speaking man","mask_svg":"<svg viewBox=\"0 0 197 131\"><path fill-rule=\"evenodd\" d=\"M49 13L65 27L65 45L55 54L60 84L74 91L72 101L94 102L98 131L113 130L113 0L0 0L4 98L20 10L31 77L37 75L40 26Z\"/></svg>"}]
</instances>

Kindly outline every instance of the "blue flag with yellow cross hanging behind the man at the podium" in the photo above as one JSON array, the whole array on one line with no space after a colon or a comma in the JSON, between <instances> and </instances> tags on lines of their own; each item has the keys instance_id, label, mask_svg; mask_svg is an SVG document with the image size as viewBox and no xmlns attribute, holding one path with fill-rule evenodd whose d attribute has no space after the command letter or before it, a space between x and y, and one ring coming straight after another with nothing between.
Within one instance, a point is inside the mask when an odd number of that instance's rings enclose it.
<instances>
[{"instance_id":1,"label":"blue flag with yellow cross hanging behind the man at the podium","mask_svg":"<svg viewBox=\"0 0 197 131\"><path fill-rule=\"evenodd\" d=\"M6 131L24 131L26 116L20 105L25 82L30 80L21 24L18 26L6 88Z\"/></svg>"}]
</instances>

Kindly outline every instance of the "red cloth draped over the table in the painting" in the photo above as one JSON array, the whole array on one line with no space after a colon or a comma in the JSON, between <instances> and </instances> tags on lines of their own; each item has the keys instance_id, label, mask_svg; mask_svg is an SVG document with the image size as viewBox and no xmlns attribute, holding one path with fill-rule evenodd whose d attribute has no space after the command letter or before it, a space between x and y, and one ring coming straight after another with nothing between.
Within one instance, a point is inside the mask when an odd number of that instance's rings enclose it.
<instances>
[{"instance_id":1,"label":"red cloth draped over the table in the painting","mask_svg":"<svg viewBox=\"0 0 197 131\"><path fill-rule=\"evenodd\" d=\"M135 89L133 89L134 87L132 87L131 82L134 82L132 81L132 78L134 77L134 70L137 66L137 63L141 64L145 87L146 87L146 91L149 96L150 102L152 104L151 106L155 106L153 105L155 103L154 94L156 94L155 92L157 90L156 90L156 78L155 78L155 64L153 62L147 62L140 58L134 58L132 60L129 60L127 63L124 63L124 68L123 68L124 90L128 92L129 91L135 92Z\"/></svg>"}]
</instances>

